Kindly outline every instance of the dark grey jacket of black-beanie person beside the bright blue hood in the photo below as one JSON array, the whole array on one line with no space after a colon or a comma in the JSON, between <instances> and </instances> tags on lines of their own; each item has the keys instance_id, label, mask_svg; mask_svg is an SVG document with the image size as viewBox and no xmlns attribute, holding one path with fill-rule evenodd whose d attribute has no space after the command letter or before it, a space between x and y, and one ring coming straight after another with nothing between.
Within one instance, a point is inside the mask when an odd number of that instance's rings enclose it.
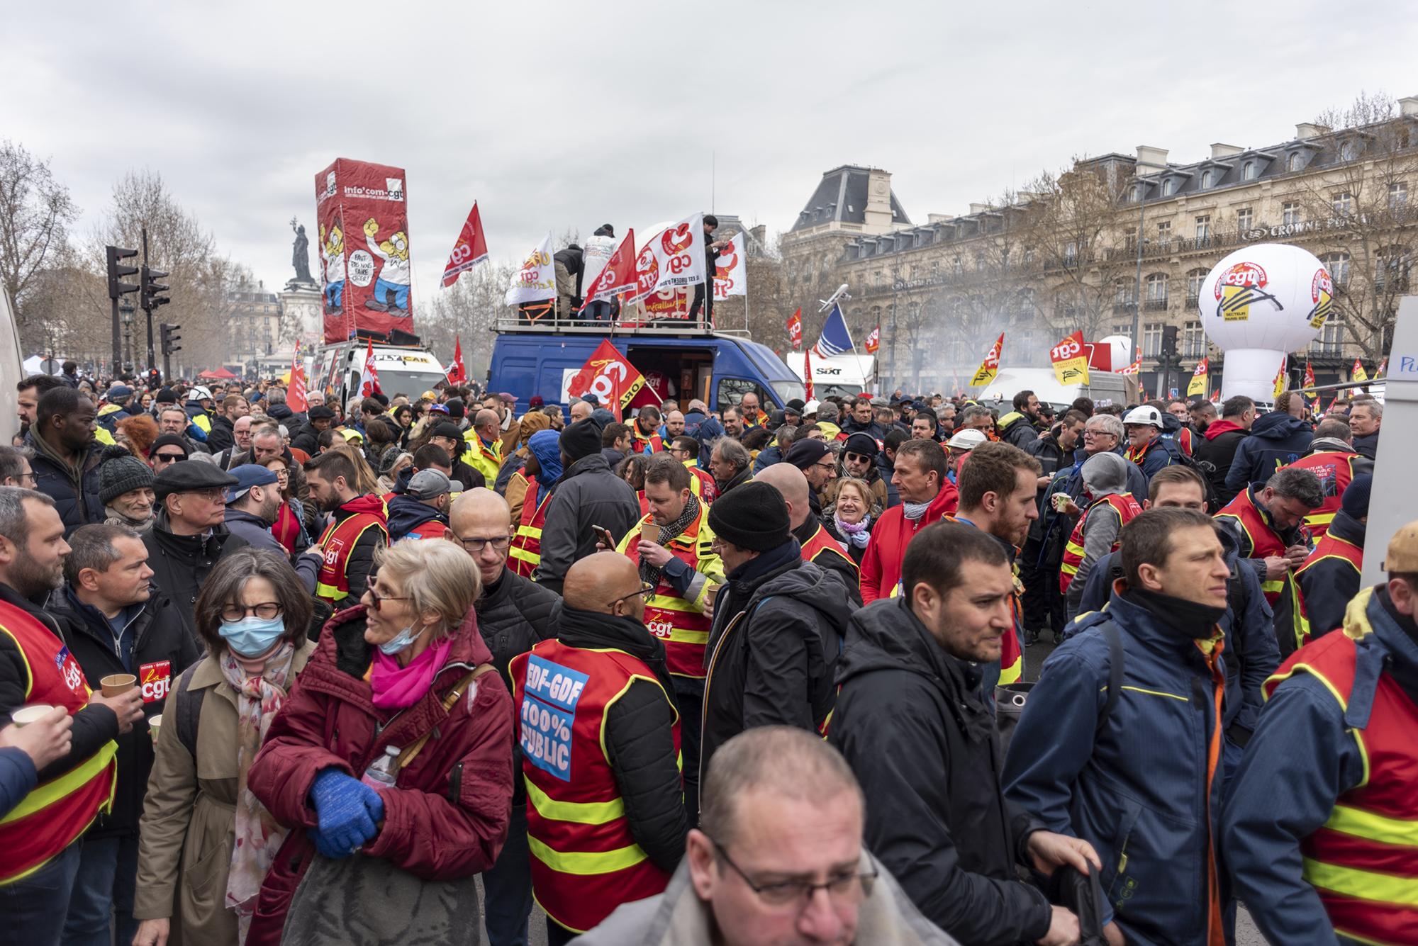
<instances>
[{"instance_id":1,"label":"dark grey jacket of black-beanie person beside the bright blue hood","mask_svg":"<svg viewBox=\"0 0 1418 946\"><path fill-rule=\"evenodd\" d=\"M613 537L624 535L640 515L635 490L611 473L605 457L600 452L581 457L557 480L546 507L536 582L560 593L571 562L596 552L591 525L604 525Z\"/></svg>"}]
</instances>

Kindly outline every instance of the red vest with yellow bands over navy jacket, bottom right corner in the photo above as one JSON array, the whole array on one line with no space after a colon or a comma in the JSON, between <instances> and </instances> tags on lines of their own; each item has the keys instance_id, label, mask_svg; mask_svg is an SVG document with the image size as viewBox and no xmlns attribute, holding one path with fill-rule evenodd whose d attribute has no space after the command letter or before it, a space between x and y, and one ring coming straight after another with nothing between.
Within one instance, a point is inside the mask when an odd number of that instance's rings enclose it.
<instances>
[{"instance_id":1,"label":"red vest with yellow bands over navy jacket, bottom right corner","mask_svg":"<svg viewBox=\"0 0 1418 946\"><path fill-rule=\"evenodd\" d=\"M1319 677L1347 710L1357 646L1324 634L1290 654L1265 681L1265 694L1296 673ZM1303 875L1334 930L1366 943L1418 942L1418 707L1387 673L1374 690L1368 725L1353 729L1366 779L1334 802L1329 820L1300 841Z\"/></svg>"}]
</instances>

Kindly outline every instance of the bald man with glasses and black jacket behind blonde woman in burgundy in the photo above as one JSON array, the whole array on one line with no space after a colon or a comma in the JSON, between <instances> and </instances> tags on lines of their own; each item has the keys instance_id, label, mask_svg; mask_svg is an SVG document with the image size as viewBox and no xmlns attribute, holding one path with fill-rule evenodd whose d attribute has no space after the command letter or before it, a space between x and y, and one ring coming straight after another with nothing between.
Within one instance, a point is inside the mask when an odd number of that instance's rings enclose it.
<instances>
[{"instance_id":1,"label":"bald man with glasses and black jacket behind blonde woman in burgundy","mask_svg":"<svg viewBox=\"0 0 1418 946\"><path fill-rule=\"evenodd\" d=\"M562 599L508 568L512 511L508 501L492 490L479 486L454 500L447 537L462 545L482 576L482 596L474 602L472 610L478 616L478 630L492 650L492 663L510 693L508 664L537 642L556 637L556 610ZM520 770L520 765L513 770ZM532 861L526 819L526 783L516 779L506 844L496 864L482 872L488 889L488 942L495 945L527 942Z\"/></svg>"}]
</instances>

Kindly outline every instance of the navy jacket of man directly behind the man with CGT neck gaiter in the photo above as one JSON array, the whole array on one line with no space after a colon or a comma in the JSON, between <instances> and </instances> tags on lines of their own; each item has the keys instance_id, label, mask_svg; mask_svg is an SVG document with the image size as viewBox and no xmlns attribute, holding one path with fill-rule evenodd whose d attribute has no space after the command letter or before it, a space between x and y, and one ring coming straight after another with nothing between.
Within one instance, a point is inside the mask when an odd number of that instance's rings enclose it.
<instances>
[{"instance_id":1,"label":"navy jacket of man directly behind the man with CGT neck gaiter","mask_svg":"<svg viewBox=\"0 0 1418 946\"><path fill-rule=\"evenodd\" d=\"M1256 717L1265 698L1261 695L1261 685L1280 666L1280 647L1275 640L1275 620L1271 605L1261 591L1261 579L1255 571L1239 564L1239 549L1231 532L1218 532L1221 544L1227 549L1227 565L1231 566L1231 609L1218 622L1227 636L1224 651L1227 664L1241 680L1241 700L1227 704L1227 735L1239 743L1249 738L1255 729ZM1115 568L1117 572L1115 574ZM1083 598L1079 602L1079 615L1088 610L1102 610L1113 593L1113 578L1122 571L1117 552L1109 552L1098 559L1093 571L1088 574L1083 585ZM1347 599L1346 599L1347 600ZM1239 616L1236 606L1239 605ZM1064 629L1064 639L1068 640L1078 633L1078 623ZM1236 732L1232 726L1239 726Z\"/></svg>"}]
</instances>

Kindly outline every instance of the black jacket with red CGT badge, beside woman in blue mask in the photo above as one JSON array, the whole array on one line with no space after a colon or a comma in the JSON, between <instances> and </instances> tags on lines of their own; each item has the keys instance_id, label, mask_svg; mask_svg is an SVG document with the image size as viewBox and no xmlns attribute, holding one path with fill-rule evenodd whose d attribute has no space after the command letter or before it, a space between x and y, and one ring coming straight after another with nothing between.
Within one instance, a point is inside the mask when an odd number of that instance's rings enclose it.
<instances>
[{"instance_id":1,"label":"black jacket with red CGT badge, beside woman in blue mask","mask_svg":"<svg viewBox=\"0 0 1418 946\"><path fill-rule=\"evenodd\" d=\"M123 629L123 637L132 647L126 664L108 622L98 610L74 598L68 586L50 595L45 610L64 625L65 642L84 668L89 688L98 690L99 681L109 674L130 673L143 690L143 719L118 736L113 811L101 814L88 836L136 834L147 794L147 773L153 769L153 738L147 721L163 711L173 681L197 663L201 651L187 633L176 605L156 585L149 588L147 600L135 606L136 613L130 615Z\"/></svg>"}]
</instances>

